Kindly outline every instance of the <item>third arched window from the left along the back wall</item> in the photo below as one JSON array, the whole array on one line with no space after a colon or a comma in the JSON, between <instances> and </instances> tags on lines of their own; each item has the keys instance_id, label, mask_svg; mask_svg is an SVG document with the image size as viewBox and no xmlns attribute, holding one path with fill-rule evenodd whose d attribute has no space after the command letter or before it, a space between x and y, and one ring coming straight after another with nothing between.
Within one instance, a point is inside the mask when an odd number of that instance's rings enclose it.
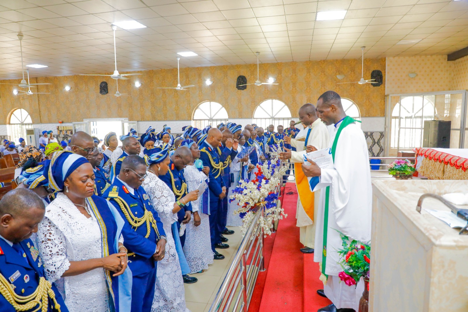
<instances>
[{"instance_id":1,"label":"third arched window from the left along the back wall","mask_svg":"<svg viewBox=\"0 0 468 312\"><path fill-rule=\"evenodd\" d=\"M274 125L275 131L277 131L278 125L287 128L289 121L291 121L291 111L286 104L280 100L269 99L256 107L252 122L265 131L267 131L268 126Z\"/></svg>"}]
</instances>

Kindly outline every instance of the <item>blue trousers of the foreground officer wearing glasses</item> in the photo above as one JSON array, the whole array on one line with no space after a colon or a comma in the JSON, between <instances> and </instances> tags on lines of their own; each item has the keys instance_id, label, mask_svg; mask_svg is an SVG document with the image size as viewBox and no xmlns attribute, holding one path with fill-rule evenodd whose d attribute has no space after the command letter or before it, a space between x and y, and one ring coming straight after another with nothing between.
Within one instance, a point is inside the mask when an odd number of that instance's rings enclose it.
<instances>
[{"instance_id":1,"label":"blue trousers of the foreground officer wearing glasses","mask_svg":"<svg viewBox=\"0 0 468 312\"><path fill-rule=\"evenodd\" d=\"M148 274L133 276L132 312L151 312L156 286L156 268L155 266Z\"/></svg>"}]
</instances>

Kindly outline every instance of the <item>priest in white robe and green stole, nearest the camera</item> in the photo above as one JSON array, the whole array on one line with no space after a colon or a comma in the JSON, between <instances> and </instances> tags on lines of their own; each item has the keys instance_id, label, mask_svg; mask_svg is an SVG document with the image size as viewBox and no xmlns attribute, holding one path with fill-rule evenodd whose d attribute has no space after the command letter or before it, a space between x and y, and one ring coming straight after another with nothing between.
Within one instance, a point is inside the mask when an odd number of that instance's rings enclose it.
<instances>
[{"instance_id":1,"label":"priest in white robe and green stole, nearest the camera","mask_svg":"<svg viewBox=\"0 0 468 312\"><path fill-rule=\"evenodd\" d=\"M314 253L314 261L322 262L323 293L333 304L319 309L318 312L350 312L351 309L358 311L364 282L361 280L355 287L340 281L338 273L343 269L336 250L342 248L337 230L350 239L364 242L371 239L372 188L366 139L355 120L346 116L341 98L336 92L327 91L319 97L317 114L326 125L334 125L329 147L334 155L335 167L321 170L310 161L310 166L302 166L307 177L319 177L319 181L316 181L318 184L311 183L312 189L329 186L326 225L324 214L327 210L327 188L322 188L320 196L315 248L322 252Z\"/></svg>"}]
</instances>

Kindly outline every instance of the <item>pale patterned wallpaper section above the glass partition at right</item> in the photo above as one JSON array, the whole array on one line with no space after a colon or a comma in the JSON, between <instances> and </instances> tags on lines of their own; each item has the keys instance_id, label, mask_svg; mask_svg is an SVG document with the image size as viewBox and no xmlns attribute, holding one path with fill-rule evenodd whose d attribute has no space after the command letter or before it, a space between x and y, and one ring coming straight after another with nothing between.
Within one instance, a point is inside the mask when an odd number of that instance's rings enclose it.
<instances>
[{"instance_id":1,"label":"pale patterned wallpaper section above the glass partition at right","mask_svg":"<svg viewBox=\"0 0 468 312\"><path fill-rule=\"evenodd\" d=\"M446 55L387 58L386 78L385 94L446 91L452 85L453 62Z\"/></svg>"}]
</instances>

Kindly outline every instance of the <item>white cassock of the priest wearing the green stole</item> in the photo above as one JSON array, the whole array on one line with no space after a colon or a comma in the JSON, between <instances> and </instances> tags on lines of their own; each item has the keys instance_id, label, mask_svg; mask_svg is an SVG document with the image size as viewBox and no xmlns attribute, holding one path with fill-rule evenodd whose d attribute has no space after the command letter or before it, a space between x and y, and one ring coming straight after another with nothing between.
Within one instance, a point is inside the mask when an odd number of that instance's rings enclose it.
<instances>
[{"instance_id":1,"label":"white cassock of the priest wearing the green stole","mask_svg":"<svg viewBox=\"0 0 468 312\"><path fill-rule=\"evenodd\" d=\"M340 124L341 122L330 133L330 148ZM323 289L337 309L351 308L358 311L364 283L358 282L355 288L340 282L338 273L343 269L338 263L340 257L336 252L342 248L342 241L336 230L350 239L363 242L371 239L372 188L369 152L364 133L355 123L344 127L341 131L336 144L334 164L335 169L322 170L320 177L321 183L330 185L325 267L325 274L329 276ZM315 262L322 262L324 207L325 189L323 188L320 194L320 209L317 211Z\"/></svg>"}]
</instances>

